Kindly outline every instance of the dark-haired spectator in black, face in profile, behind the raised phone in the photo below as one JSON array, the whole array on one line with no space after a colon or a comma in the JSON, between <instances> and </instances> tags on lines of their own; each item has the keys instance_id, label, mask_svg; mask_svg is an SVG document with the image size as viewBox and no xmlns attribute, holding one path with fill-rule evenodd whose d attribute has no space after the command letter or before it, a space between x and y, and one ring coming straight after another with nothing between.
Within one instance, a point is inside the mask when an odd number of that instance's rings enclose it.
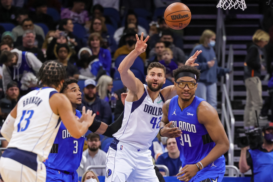
<instances>
[{"instance_id":1,"label":"dark-haired spectator in black, face in profile, behind the raised phone","mask_svg":"<svg viewBox=\"0 0 273 182\"><path fill-rule=\"evenodd\" d=\"M59 23L59 30L66 33L69 46L78 52L83 47L83 44L81 39L72 33L73 27L74 25L72 20L68 18L62 19Z\"/></svg>"}]
</instances>

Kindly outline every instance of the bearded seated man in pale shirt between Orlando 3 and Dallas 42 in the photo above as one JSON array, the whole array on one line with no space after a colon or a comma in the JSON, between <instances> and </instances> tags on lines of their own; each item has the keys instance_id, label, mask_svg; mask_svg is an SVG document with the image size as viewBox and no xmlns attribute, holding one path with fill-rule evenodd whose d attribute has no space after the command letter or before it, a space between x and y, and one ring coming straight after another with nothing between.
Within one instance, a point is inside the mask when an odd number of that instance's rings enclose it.
<instances>
[{"instance_id":1,"label":"bearded seated man in pale shirt between Orlando 3 and Dallas 42","mask_svg":"<svg viewBox=\"0 0 273 182\"><path fill-rule=\"evenodd\" d=\"M82 164L84 169L90 165L105 165L106 162L106 153L100 149L100 136L96 133L89 133L87 135L88 149L82 152L82 157L86 158L86 162ZM105 175L105 169L91 169L97 175L103 176Z\"/></svg>"}]
</instances>

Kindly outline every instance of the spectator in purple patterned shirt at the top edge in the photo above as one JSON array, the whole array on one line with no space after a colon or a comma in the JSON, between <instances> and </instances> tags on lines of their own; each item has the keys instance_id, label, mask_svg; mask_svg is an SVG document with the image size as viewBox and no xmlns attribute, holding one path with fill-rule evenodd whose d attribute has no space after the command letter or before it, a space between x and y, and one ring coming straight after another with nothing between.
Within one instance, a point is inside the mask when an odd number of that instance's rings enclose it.
<instances>
[{"instance_id":1,"label":"spectator in purple patterned shirt at the top edge","mask_svg":"<svg viewBox=\"0 0 273 182\"><path fill-rule=\"evenodd\" d=\"M61 19L69 18L73 23L85 24L89 20L88 12L84 10L85 0L74 0L73 7L61 11Z\"/></svg>"}]
</instances>

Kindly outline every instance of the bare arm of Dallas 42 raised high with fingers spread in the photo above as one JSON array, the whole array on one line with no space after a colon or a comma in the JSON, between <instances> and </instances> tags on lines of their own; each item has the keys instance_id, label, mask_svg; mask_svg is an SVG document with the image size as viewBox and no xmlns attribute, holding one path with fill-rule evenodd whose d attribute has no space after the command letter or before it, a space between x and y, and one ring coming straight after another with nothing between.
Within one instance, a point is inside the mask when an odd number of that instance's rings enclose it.
<instances>
[{"instance_id":1,"label":"bare arm of Dallas 42 raised high with fingers spread","mask_svg":"<svg viewBox=\"0 0 273 182\"><path fill-rule=\"evenodd\" d=\"M123 84L133 93L138 93L138 87L142 85L141 81L135 78L135 75L132 71L130 71L130 67L133 65L135 59L143 52L146 51L147 48L147 40L149 36L143 40L143 33L141 33L141 38L138 38L136 34L136 45L135 49L128 54L124 60L120 63L118 67L118 72L120 73L121 81ZM143 86L143 85L142 85ZM144 90L144 89L143 89Z\"/></svg>"}]
</instances>

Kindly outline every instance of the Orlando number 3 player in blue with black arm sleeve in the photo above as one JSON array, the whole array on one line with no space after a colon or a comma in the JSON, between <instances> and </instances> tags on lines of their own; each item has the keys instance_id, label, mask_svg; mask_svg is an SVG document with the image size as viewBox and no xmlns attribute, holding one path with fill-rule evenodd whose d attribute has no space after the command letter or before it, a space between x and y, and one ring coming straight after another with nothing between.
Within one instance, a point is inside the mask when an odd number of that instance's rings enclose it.
<instances>
[{"instance_id":1,"label":"Orlando number 3 player in blue with black arm sleeve","mask_svg":"<svg viewBox=\"0 0 273 182\"><path fill-rule=\"evenodd\" d=\"M90 84L90 81L85 80L85 85ZM95 82L95 81L94 81ZM63 83L63 88L60 93L63 93L70 100L73 108L73 112L76 116L81 118L81 111L76 110L78 105L81 105L80 88L78 86L78 80L66 79ZM94 83L92 83L94 84ZM126 94L121 94L121 100L124 102ZM94 119L93 124L89 129L97 134L103 134L108 137L112 137L116 133L122 124L123 113L121 116L110 126ZM54 144L48 156L48 159L44 162L46 165L46 181L63 181L63 182L77 182L78 173L76 170L79 168L82 160L82 151L84 146L85 134L81 138L76 139L72 137L64 124L61 123Z\"/></svg>"}]
</instances>

